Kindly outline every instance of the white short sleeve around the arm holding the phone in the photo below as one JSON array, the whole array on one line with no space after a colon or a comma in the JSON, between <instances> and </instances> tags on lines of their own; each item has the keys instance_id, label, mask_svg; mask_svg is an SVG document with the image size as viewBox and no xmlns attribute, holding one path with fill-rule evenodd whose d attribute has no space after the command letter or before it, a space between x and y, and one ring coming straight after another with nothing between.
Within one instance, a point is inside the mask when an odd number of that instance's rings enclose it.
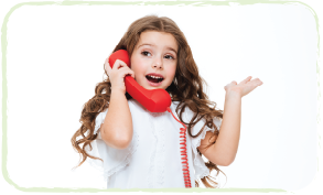
<instances>
[{"instance_id":1,"label":"white short sleeve around the arm holding the phone","mask_svg":"<svg viewBox=\"0 0 323 195\"><path fill-rule=\"evenodd\" d=\"M105 143L100 137L99 128L104 123L107 112L108 109L96 117L94 133L97 133L98 137L90 142L91 150L88 145L86 148L88 154L103 160L87 158L87 162L103 173L106 182L112 174L119 172L130 163L131 156L138 147L138 134L136 132L133 132L131 143L127 149L114 149Z\"/></svg>"}]
</instances>

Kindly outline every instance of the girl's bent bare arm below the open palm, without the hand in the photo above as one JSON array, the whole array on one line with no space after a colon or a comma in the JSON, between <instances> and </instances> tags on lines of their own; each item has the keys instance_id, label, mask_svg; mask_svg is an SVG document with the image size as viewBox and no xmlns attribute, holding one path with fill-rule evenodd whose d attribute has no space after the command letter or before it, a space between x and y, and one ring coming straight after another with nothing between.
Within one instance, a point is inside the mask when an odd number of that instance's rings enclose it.
<instances>
[{"instance_id":1,"label":"girl's bent bare arm below the open palm, without the hand","mask_svg":"<svg viewBox=\"0 0 323 195\"><path fill-rule=\"evenodd\" d=\"M236 158L240 139L241 97L238 93L227 91L225 97L223 121L218 137L207 131L205 139L201 140L198 151L211 162L220 166L232 164ZM214 144L205 149L216 140Z\"/></svg>"}]
</instances>

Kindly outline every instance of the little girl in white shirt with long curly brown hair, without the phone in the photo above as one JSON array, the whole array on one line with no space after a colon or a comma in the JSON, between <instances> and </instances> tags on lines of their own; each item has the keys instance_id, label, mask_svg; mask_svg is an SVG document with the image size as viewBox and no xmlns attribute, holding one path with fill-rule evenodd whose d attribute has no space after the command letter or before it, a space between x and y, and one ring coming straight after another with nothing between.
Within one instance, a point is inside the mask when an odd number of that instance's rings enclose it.
<instances>
[{"instance_id":1,"label":"little girl in white shirt with long curly brown hair, without the phone","mask_svg":"<svg viewBox=\"0 0 323 195\"><path fill-rule=\"evenodd\" d=\"M215 109L203 90L191 48L171 19L149 15L134 21L115 47L127 50L131 68L120 59L105 62L108 78L95 88L83 108L82 127L72 138L82 154L104 173L108 188L187 187L183 176L180 129L169 112L150 112L127 91L131 75L146 89L165 89L171 110L187 126L186 152L190 186L217 187L209 176L217 165L229 165L237 153L241 98L260 86L247 77L225 86L224 111ZM78 137L82 137L77 140ZM80 147L83 144L83 147ZM204 162L202 154L208 160ZM78 166L79 166L78 165Z\"/></svg>"}]
</instances>

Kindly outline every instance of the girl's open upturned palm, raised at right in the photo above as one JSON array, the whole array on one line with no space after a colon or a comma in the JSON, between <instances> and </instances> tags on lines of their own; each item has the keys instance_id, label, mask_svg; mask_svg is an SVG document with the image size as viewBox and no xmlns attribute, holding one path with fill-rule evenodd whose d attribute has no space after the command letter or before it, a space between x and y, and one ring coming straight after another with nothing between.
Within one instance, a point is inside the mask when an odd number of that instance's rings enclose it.
<instances>
[{"instance_id":1,"label":"girl's open upturned palm, raised at right","mask_svg":"<svg viewBox=\"0 0 323 195\"><path fill-rule=\"evenodd\" d=\"M246 79L237 84L235 80L229 83L224 87L226 91L233 90L240 95L240 97L246 96L250 91L252 91L256 87L262 85L262 82L259 78L255 78L252 80L251 76L248 76Z\"/></svg>"}]
</instances>

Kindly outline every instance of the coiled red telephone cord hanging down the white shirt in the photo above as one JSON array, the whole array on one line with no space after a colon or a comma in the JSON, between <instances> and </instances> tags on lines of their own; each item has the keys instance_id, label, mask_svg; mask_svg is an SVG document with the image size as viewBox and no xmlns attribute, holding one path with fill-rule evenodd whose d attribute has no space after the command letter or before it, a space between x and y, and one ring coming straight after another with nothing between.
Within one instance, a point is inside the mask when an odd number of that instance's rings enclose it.
<instances>
[{"instance_id":1,"label":"coiled red telephone cord hanging down the white shirt","mask_svg":"<svg viewBox=\"0 0 323 195\"><path fill-rule=\"evenodd\" d=\"M172 113L175 120L177 120L180 123L182 123L185 127L185 128L181 128L180 138L183 138L183 140L181 140L182 142L180 144L182 144L183 147L181 147L180 149L183 149L181 151L181 155L182 155L181 159L183 160L182 163L183 163L183 175L184 175L185 187L190 188L192 186L191 186L189 160L187 160L187 152L186 152L186 126L183 122L181 122L179 119L176 119L176 117L173 115L170 108L168 108L168 111Z\"/></svg>"}]
</instances>

